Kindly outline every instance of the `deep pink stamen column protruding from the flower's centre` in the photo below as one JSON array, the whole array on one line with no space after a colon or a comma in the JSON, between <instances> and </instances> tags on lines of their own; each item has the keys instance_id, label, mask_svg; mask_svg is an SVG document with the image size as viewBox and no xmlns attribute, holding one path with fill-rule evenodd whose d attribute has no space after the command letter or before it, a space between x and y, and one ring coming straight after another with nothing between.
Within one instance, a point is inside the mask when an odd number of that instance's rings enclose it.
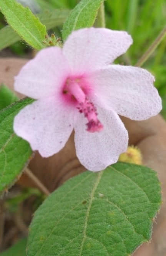
<instances>
[{"instance_id":1,"label":"deep pink stamen column protruding from the flower's centre","mask_svg":"<svg viewBox=\"0 0 166 256\"><path fill-rule=\"evenodd\" d=\"M63 94L70 96L70 99L76 102L76 108L80 113L83 113L87 118L86 131L95 132L103 130L103 125L97 118L97 111L94 104L88 99L86 92L84 92L82 86L80 86L80 78L67 79L63 88Z\"/></svg>"}]
</instances>

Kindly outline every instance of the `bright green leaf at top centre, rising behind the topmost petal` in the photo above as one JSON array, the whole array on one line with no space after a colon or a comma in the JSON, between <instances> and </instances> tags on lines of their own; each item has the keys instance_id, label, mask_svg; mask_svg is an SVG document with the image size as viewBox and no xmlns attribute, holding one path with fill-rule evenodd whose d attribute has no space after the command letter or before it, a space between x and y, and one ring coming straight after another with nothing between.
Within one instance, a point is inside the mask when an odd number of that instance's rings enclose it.
<instances>
[{"instance_id":1,"label":"bright green leaf at top centre, rising behind the topmost petal","mask_svg":"<svg viewBox=\"0 0 166 256\"><path fill-rule=\"evenodd\" d=\"M65 40L73 30L93 26L102 2L103 0L81 0L71 11L63 25L63 40Z\"/></svg>"}]
</instances>

